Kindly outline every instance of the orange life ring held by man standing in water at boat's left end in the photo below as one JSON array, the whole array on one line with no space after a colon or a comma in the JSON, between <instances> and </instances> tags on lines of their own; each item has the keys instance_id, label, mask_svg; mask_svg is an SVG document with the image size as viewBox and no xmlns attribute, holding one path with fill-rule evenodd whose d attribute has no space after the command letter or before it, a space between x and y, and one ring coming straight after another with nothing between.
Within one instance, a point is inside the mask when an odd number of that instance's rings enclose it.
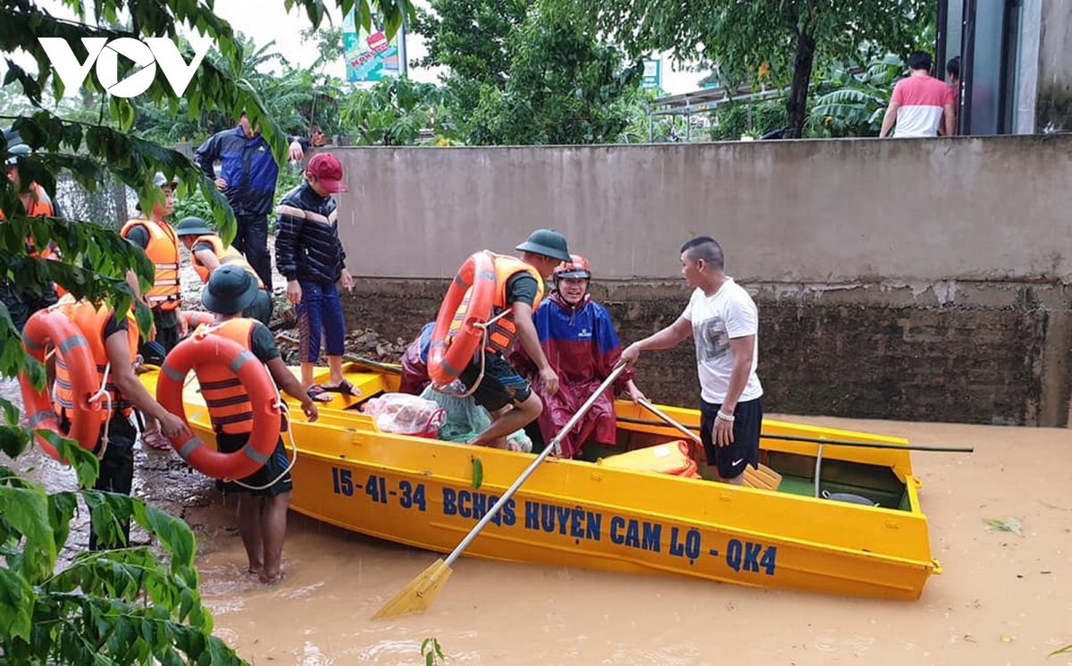
<instances>
[{"instance_id":1,"label":"orange life ring held by man standing in water at boat's left end","mask_svg":"<svg viewBox=\"0 0 1072 666\"><path fill-rule=\"evenodd\" d=\"M182 387L190 370L223 364L238 375L253 404L253 431L240 450L223 454L205 446L196 434L172 439L172 446L198 472L213 478L243 478L259 470L276 452L280 408L276 383L253 352L222 336L200 332L175 345L164 359L157 380L157 401L187 420ZM188 421L189 425L189 421ZM191 430L191 432L193 432Z\"/></svg>"}]
</instances>

